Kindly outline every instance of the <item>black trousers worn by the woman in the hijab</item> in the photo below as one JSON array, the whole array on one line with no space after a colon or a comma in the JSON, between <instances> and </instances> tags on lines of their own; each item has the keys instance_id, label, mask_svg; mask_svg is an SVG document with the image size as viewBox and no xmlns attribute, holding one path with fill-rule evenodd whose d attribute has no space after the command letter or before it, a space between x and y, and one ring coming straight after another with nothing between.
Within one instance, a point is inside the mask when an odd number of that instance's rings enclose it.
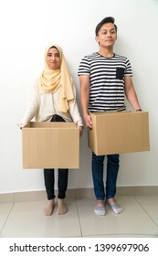
<instances>
[{"instance_id":1,"label":"black trousers worn by the woman in the hijab","mask_svg":"<svg viewBox=\"0 0 158 256\"><path fill-rule=\"evenodd\" d=\"M64 119L58 115L54 115L50 122L65 122ZM54 169L44 169L45 187L47 191L47 199L54 199L55 191L55 174ZM68 187L68 169L58 169L58 198L64 199Z\"/></svg>"}]
</instances>

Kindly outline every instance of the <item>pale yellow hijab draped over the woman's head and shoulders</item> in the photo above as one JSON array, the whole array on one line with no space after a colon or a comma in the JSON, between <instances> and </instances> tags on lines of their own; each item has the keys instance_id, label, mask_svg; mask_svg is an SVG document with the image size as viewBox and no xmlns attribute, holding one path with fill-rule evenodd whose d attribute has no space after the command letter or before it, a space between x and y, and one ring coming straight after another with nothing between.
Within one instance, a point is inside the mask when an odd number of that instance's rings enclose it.
<instances>
[{"instance_id":1,"label":"pale yellow hijab draped over the woman's head and shoulders","mask_svg":"<svg viewBox=\"0 0 158 256\"><path fill-rule=\"evenodd\" d=\"M61 59L60 69L53 70L47 66L46 57L49 48L58 48ZM53 93L60 89L58 111L68 112L68 102L74 101L73 85L62 49L58 45L49 45L45 50L45 67L39 78L39 93Z\"/></svg>"}]
</instances>

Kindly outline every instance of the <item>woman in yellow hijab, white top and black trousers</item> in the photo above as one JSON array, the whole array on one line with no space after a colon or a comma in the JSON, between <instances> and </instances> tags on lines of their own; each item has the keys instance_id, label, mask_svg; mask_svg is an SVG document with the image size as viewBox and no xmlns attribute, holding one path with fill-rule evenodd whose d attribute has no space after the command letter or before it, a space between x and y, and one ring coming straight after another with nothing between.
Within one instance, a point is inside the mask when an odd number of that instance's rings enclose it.
<instances>
[{"instance_id":1,"label":"woman in yellow hijab, white top and black trousers","mask_svg":"<svg viewBox=\"0 0 158 256\"><path fill-rule=\"evenodd\" d=\"M62 49L55 44L49 45L44 60L44 69L33 84L26 114L18 125L22 128L33 118L36 122L74 122L79 126L81 136L83 123L76 101L76 90ZM44 169L44 180L48 200L44 213L50 216L55 207L54 169ZM68 210L64 202L67 187L68 169L58 169L59 215Z\"/></svg>"}]
</instances>

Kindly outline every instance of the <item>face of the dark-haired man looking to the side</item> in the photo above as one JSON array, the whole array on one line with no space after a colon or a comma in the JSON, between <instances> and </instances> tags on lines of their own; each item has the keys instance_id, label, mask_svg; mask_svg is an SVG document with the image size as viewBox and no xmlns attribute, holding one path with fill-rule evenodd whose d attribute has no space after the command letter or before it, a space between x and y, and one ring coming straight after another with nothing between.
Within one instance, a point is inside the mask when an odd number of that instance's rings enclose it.
<instances>
[{"instance_id":1,"label":"face of the dark-haired man looking to the side","mask_svg":"<svg viewBox=\"0 0 158 256\"><path fill-rule=\"evenodd\" d=\"M111 48L113 47L117 39L117 32L112 23L106 23L100 27L99 35L96 37L96 41L100 44L100 47Z\"/></svg>"}]
</instances>

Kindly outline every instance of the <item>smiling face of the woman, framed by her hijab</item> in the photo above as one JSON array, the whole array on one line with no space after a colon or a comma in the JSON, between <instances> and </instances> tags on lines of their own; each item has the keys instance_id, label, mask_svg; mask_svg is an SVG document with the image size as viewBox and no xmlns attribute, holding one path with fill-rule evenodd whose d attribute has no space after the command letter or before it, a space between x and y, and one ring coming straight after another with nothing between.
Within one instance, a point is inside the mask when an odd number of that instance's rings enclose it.
<instances>
[{"instance_id":1,"label":"smiling face of the woman, framed by her hijab","mask_svg":"<svg viewBox=\"0 0 158 256\"><path fill-rule=\"evenodd\" d=\"M61 59L57 48L49 48L46 57L47 66L50 69L57 70L60 68Z\"/></svg>"}]
</instances>

